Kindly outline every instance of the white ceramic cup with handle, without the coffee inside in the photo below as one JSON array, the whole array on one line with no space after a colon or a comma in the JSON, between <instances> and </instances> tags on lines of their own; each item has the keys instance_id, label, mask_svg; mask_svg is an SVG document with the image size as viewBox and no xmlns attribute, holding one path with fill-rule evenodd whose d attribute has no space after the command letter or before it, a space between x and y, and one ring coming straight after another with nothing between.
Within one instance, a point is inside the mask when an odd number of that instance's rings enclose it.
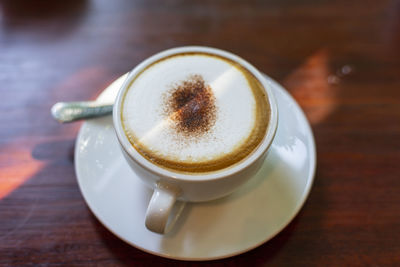
<instances>
[{"instance_id":1,"label":"white ceramic cup with handle, without the coffee inside","mask_svg":"<svg viewBox=\"0 0 400 267\"><path fill-rule=\"evenodd\" d=\"M174 172L151 163L131 145L121 122L121 103L124 93L128 89L131 81L153 62L174 54L188 52L215 54L239 63L261 82L271 107L270 122L266 134L256 150L246 159L242 160L242 162L232 167L212 173L205 173L203 175ZM176 205L177 200L180 200L180 203L185 203L209 201L220 198L232 193L256 174L264 162L268 149L274 139L278 124L278 110L270 85L264 79L263 75L247 61L232 53L215 48L186 46L169 49L151 56L137 65L128 74L114 103L113 121L123 155L130 167L147 185L154 189L153 196L147 208L145 219L146 227L153 232L163 234L166 232L167 228L170 228L171 223L169 222L175 221L174 218L171 217L177 215L171 215L171 211L174 205Z\"/></svg>"}]
</instances>

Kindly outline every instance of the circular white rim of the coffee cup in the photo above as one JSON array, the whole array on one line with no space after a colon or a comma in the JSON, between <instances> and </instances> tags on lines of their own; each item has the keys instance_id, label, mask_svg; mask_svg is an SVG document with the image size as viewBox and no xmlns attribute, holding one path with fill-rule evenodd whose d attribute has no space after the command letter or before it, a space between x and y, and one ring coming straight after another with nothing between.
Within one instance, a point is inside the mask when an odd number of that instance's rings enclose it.
<instances>
[{"instance_id":1,"label":"circular white rim of the coffee cup","mask_svg":"<svg viewBox=\"0 0 400 267\"><path fill-rule=\"evenodd\" d=\"M186 174L181 173L178 171L169 170L160 166L155 165L154 163L147 160L143 157L130 143L128 137L126 136L121 122L121 104L124 98L126 90L129 88L129 85L133 78L135 78L138 74L140 74L147 66L151 65L152 63L174 54L180 53L191 53L191 52L203 52L209 54L215 54L217 56L222 56L232 61L235 61L245 67L248 71L250 71L263 85L267 95L268 101L271 109L270 113L270 122L267 127L266 135L264 136L261 143L258 147L249 155L247 156L242 162L239 162L231 167L227 167L221 170L213 171L213 172L206 172L206 173L195 173L195 174ZM276 105L275 96L272 92L270 84L264 78L264 76L249 62L244 60L243 58L232 54L230 52L206 47L206 46L182 46L164 50L159 52L149 58L145 59L141 63L139 63L135 68L133 68L129 73L127 78L125 79L123 85L118 91L116 100L114 102L113 107L113 123L114 129L118 138L118 141L121 145L121 148L129 155L130 159L135 161L139 164L142 168L150 171L151 173L160 176L166 177L173 180L186 180L186 181L205 181L205 180L214 180L214 179L222 179L225 177L232 176L244 169L247 169L251 166L254 162L257 161L260 157L264 155L264 153L269 149L272 144L272 141L275 137L276 129L278 126L278 109Z\"/></svg>"}]
</instances>

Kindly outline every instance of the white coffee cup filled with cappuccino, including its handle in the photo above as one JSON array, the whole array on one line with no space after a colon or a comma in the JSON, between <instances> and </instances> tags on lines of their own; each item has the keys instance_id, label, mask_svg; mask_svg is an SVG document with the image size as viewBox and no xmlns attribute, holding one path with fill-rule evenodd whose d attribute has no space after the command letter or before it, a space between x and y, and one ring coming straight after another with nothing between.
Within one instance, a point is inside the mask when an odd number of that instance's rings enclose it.
<instances>
[{"instance_id":1,"label":"white coffee cup filled with cappuccino, including its handle","mask_svg":"<svg viewBox=\"0 0 400 267\"><path fill-rule=\"evenodd\" d=\"M149 57L113 108L122 153L153 191L145 225L164 234L179 203L234 192L263 164L278 124L263 75L244 59L187 46Z\"/></svg>"}]
</instances>

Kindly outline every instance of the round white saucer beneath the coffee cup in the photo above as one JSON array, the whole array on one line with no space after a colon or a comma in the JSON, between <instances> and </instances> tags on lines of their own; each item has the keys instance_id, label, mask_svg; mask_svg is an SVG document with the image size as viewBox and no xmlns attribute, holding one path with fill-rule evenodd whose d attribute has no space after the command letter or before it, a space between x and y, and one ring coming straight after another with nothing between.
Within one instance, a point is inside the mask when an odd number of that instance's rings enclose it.
<instances>
[{"instance_id":1,"label":"round white saucer beneath the coffee cup","mask_svg":"<svg viewBox=\"0 0 400 267\"><path fill-rule=\"evenodd\" d=\"M124 78L98 100L113 102ZM279 126L261 171L228 197L187 204L172 232L164 236L145 228L152 191L123 159L111 116L85 122L76 141L75 169L83 197L99 221L138 249L180 260L234 256L278 234L310 192L316 152L310 125L296 101L266 78L277 99Z\"/></svg>"}]
</instances>

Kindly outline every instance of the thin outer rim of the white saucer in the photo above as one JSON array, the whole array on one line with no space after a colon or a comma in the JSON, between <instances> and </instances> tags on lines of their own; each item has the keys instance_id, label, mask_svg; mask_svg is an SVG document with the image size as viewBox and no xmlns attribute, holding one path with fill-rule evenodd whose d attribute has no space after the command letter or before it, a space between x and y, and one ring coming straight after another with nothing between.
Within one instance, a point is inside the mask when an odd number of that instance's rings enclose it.
<instances>
[{"instance_id":1,"label":"thin outer rim of the white saucer","mask_svg":"<svg viewBox=\"0 0 400 267\"><path fill-rule=\"evenodd\" d=\"M248 248L246 248L246 249L243 249L243 250L238 250L238 251L235 251L235 252L232 252L232 253L228 253L228 254L223 254L223 255L220 255L220 256L212 256L212 257L182 257L182 256L174 256L174 255L171 255L171 254L162 254L162 253L159 253L159 252L156 252L156 251L148 250L148 249L146 249L146 248L140 247L140 246L138 246L138 245L132 243L131 241L129 241L129 240L127 240L126 238L124 238L123 236L121 236L121 235L117 234L116 232L114 232L114 231L113 231L112 229L110 229L105 223L103 223L103 221L100 219L100 216L97 215L97 213L95 212L96 209L95 209L94 207L91 206L91 204L90 204L89 201L86 200L86 199L87 199L87 196L86 196L86 194L84 193L84 190L83 190L83 188L82 188L82 184L80 183L80 179L79 179L79 177L78 177L78 169L79 169L80 163L79 163L79 161L75 160L75 162L74 162L74 163L75 163L75 164L74 164L74 165L75 165L75 174L76 174L76 179L77 179L77 183L78 183L79 190L80 190L80 192L81 192L81 194L82 194L82 196L83 196L83 199L84 199L86 205L89 207L89 210L90 210L91 213L95 216L95 218L96 218L108 231L110 231L111 233L113 233L116 237L118 237L119 239L121 239L121 240L124 241L125 243L129 244L130 246L132 246L132 247L134 247L134 248L136 248L136 249L138 249L138 250L141 250L141 251L143 251L143 252L149 253L149 254L151 254L151 255L159 256L159 257L166 258L166 259L180 260L180 261L194 261L194 262L195 262L195 261L197 261L197 262L199 262L199 261L213 261L213 260L220 260L220 259L226 259L226 258L238 256L238 255L241 255L241 254L244 254L244 253L246 253L246 252L249 252L249 251L251 251L251 250L253 250L253 249L255 249L255 248L257 248L257 247L259 247L259 246L261 246L261 245L263 245L263 244L265 244L265 243L267 243L268 241L270 241L271 239L273 239L275 236L277 236L280 232L282 232L282 231L294 220L294 218L299 214L301 208L304 206L304 204L305 204L306 200L308 199L308 196L309 196L309 194L310 194L310 192L311 192L311 188L312 188L312 185L313 185L314 180L315 180L315 173L316 173L316 168L317 168L316 144L315 144L315 138L314 138L314 134L313 134L313 131L312 131L310 122L308 121L308 119L307 119L307 117L306 117L306 115L305 115L303 109L300 107L300 105L297 103L297 101L296 101L296 100L293 98L293 96L292 96L282 85L280 85L277 81L275 81L274 79L272 79L271 77L269 77L268 75L266 75L266 74L264 74L264 73L262 73L262 72L260 72L260 73L262 74L262 76L264 76L264 78L266 79L267 83L270 83L270 87L271 87L271 89L272 89L271 91L272 91L272 93L274 94L274 96L275 96L275 92L274 92L274 91L275 91L275 89L276 89L276 90L279 90L279 91L283 92L283 94L285 94L286 97L288 97L289 99L291 99L291 101L292 101L293 104L296 106L297 110L300 112L301 116L303 117L303 119L304 119L304 121L305 121L305 124L306 124L306 127L307 127L307 131L308 131L308 133L309 133L308 138L309 138L310 141L311 141L311 142L310 142L310 145L309 145L309 148L310 148L310 151L309 151L309 152L310 152L310 160L309 160L309 163L308 163L309 166L310 166L310 175L309 175L309 177L307 177L307 183L306 183L306 185L305 185L305 187L304 187L305 190L303 191L303 194L302 194L301 197L299 198L300 201L297 202L297 206L295 207L292 216L287 220L286 223L282 224L282 226L281 226L280 228L278 228L273 234L269 235L266 239L264 239L264 240L262 240L262 241L260 241L260 242L257 242L257 243L255 243L254 245L252 245L252 246L250 246L250 247L248 247ZM110 83L110 85L107 86L107 87L98 95L97 100L100 100L100 99L108 92L108 90L110 90L110 88L112 87L112 85L113 85L114 83L116 83L117 81L122 80L123 77L126 77L126 74L125 74L125 75L121 75L120 77L118 77L117 79L115 79L112 83ZM275 98L276 98L276 96L275 96ZM279 124L279 123L278 123L278 124ZM86 127L86 126L87 126L87 122L84 122L84 123L81 125L80 129L79 129L79 132L78 132L78 135L77 135L77 138L76 138L76 141L75 141L75 151L74 151L74 158L75 158L75 159L78 158L79 149L77 149L77 148L79 147L78 144L80 143L80 140L81 140L82 135L83 135L83 130L82 130L82 129L83 129L84 127ZM277 128L278 128L278 127L277 127ZM274 143L274 142L272 141L271 145L272 145L273 143ZM264 161L264 162L265 162L265 161ZM265 164L265 163L263 163L263 164Z\"/></svg>"}]
</instances>

